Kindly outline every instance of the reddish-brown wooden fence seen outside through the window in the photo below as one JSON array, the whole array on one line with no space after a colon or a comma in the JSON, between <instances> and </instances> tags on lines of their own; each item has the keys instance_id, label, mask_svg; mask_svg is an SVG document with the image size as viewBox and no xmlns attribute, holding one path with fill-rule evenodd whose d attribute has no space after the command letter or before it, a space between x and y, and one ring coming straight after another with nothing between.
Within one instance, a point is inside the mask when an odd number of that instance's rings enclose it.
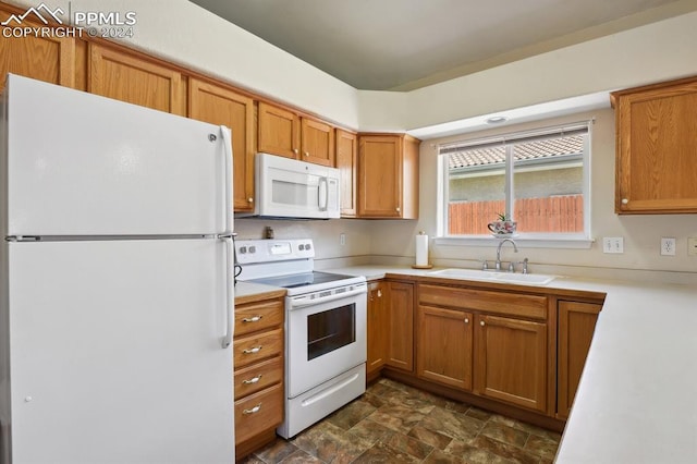
<instances>
[{"instance_id":1,"label":"reddish-brown wooden fence seen outside through the window","mask_svg":"<svg viewBox=\"0 0 697 464\"><path fill-rule=\"evenodd\" d=\"M458 202L449 205L449 233L488 234L487 224L505 210L503 200ZM515 200L513 217L518 232L583 232L583 195Z\"/></svg>"}]
</instances>

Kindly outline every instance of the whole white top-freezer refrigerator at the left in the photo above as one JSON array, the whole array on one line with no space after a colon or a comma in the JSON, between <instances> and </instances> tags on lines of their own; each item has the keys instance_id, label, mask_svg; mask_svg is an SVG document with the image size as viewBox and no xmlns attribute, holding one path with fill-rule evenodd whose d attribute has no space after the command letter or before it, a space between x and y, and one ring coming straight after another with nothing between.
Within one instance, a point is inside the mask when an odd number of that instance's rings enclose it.
<instances>
[{"instance_id":1,"label":"whole white top-freezer refrigerator at the left","mask_svg":"<svg viewBox=\"0 0 697 464\"><path fill-rule=\"evenodd\" d=\"M234 462L230 131L10 75L0 447Z\"/></svg>"}]
</instances>

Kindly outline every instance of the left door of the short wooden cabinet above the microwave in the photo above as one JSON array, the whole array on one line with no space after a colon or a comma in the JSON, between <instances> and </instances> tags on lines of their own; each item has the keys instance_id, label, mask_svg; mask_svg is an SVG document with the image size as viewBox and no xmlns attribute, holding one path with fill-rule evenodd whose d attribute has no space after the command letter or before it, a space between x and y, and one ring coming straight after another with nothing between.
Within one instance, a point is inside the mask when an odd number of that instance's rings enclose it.
<instances>
[{"instance_id":1,"label":"left door of the short wooden cabinet above the microwave","mask_svg":"<svg viewBox=\"0 0 697 464\"><path fill-rule=\"evenodd\" d=\"M297 114L259 102L259 151L297 159L299 137Z\"/></svg>"}]
</instances>

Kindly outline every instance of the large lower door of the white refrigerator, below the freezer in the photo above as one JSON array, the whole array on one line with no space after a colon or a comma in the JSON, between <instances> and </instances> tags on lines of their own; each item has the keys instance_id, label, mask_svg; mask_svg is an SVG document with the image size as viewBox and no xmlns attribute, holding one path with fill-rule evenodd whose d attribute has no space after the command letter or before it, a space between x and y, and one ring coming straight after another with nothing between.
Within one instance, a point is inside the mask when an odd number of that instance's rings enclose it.
<instances>
[{"instance_id":1,"label":"large lower door of the white refrigerator, below the freezer","mask_svg":"<svg viewBox=\"0 0 697 464\"><path fill-rule=\"evenodd\" d=\"M9 246L13 462L234 462L221 241Z\"/></svg>"}]
</instances>

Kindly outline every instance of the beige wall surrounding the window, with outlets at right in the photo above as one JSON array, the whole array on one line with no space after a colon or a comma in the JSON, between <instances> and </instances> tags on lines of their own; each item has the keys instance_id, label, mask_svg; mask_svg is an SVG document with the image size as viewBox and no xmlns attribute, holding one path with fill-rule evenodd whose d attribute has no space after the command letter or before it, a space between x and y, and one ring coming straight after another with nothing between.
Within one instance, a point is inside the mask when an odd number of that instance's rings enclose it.
<instances>
[{"instance_id":1,"label":"beige wall surrounding the window, with outlets at right","mask_svg":"<svg viewBox=\"0 0 697 464\"><path fill-rule=\"evenodd\" d=\"M386 256L414 256L414 235L424 230L436 236L437 208L437 145L465 138L478 138L505 131L530 129L537 124L554 125L595 118L591 142L591 235L596 239L590 249L534 248L522 243L521 253L511 256L530 259L530 269L549 269L548 265L582 268L574 272L592 274L595 268L641 269L697 272L697 256L687 256L687 237L697 236L697 215L617 216L614 213L614 112L611 109L573 114L538 123L526 123L480 133L427 141L421 144L420 169L421 212L418 221L389 222L374 224L371 253ZM603 254L600 245L602 236L623 236L625 253ZM660 256L661 236L677 239L676 256ZM443 265L451 259L493 259L498 241L491 239L484 246L438 245L431 241L431 257ZM468 262L475 266L474 262ZM563 269L558 270L563 272Z\"/></svg>"}]
</instances>

